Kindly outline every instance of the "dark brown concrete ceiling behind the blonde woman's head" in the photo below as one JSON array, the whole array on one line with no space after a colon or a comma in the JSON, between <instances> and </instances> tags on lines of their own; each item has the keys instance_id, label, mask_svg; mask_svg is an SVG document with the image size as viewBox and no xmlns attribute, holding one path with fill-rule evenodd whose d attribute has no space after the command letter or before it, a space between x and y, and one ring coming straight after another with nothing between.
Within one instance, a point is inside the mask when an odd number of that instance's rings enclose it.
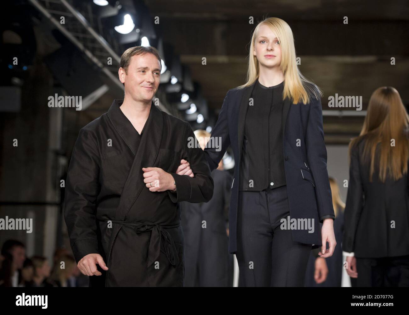
<instances>
[{"instance_id":1,"label":"dark brown concrete ceiling behind the blonde woman's head","mask_svg":"<svg viewBox=\"0 0 409 315\"><path fill-rule=\"evenodd\" d=\"M328 96L362 96L390 85L409 104L407 1L164 1L146 4L160 18L162 37L189 65L209 107L220 109L229 89L245 82L249 40L257 21L283 18L294 33L301 72ZM254 24L249 24L249 17ZM343 23L344 16L348 24ZM202 57L207 64L202 65ZM391 57L396 64L391 65ZM326 142L348 143L363 117L324 117Z\"/></svg>"}]
</instances>

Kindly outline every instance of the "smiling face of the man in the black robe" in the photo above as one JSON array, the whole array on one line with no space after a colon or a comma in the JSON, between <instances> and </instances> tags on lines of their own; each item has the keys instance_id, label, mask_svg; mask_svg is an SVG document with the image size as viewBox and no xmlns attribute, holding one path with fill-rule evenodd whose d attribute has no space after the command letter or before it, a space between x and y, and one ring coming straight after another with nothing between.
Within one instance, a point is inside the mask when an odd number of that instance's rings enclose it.
<instances>
[{"instance_id":1,"label":"smiling face of the man in the black robe","mask_svg":"<svg viewBox=\"0 0 409 315\"><path fill-rule=\"evenodd\" d=\"M151 102L160 82L160 61L151 54L130 58L127 72L119 68L119 80L125 84L125 95L138 102Z\"/></svg>"}]
</instances>

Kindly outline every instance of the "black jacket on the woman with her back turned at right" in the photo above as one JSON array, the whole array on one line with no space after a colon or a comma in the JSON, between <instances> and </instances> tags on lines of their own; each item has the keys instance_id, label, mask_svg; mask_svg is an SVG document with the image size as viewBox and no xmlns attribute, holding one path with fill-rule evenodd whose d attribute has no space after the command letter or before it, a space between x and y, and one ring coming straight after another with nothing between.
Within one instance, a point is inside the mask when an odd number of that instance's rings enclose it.
<instances>
[{"instance_id":1,"label":"black jacket on the woman with her back turned at right","mask_svg":"<svg viewBox=\"0 0 409 315\"><path fill-rule=\"evenodd\" d=\"M342 250L361 258L408 255L408 174L397 181L387 177L382 183L375 162L369 182L370 161L362 158L364 145L365 138L351 149ZM375 156L379 153L378 144Z\"/></svg>"}]
</instances>

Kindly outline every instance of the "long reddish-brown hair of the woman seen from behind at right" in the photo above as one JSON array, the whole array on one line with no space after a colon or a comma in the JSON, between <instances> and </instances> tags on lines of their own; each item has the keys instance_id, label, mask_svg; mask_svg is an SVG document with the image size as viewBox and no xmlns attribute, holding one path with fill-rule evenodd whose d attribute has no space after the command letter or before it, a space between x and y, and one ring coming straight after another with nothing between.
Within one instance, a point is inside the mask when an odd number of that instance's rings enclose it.
<instances>
[{"instance_id":1,"label":"long reddish-brown hair of the woman seen from behind at right","mask_svg":"<svg viewBox=\"0 0 409 315\"><path fill-rule=\"evenodd\" d=\"M369 99L368 110L362 126L362 131L357 138L349 144L349 155L355 144L365 139L363 160L371 158L369 181L375 171L375 150L380 143L379 179L385 182L387 175L393 180L399 180L406 174L409 141L408 141L409 116L403 106L399 92L393 87L380 87L376 89ZM394 146L391 144L394 140Z\"/></svg>"}]
</instances>

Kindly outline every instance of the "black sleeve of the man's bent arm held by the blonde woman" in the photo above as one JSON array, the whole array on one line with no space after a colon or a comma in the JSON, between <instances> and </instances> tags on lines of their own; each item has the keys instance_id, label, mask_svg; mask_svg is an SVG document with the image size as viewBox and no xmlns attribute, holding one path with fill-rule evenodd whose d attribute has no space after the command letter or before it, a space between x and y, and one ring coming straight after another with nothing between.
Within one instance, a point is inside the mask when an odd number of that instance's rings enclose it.
<instances>
[{"instance_id":1,"label":"black sleeve of the man's bent arm held by the blonde woman","mask_svg":"<svg viewBox=\"0 0 409 315\"><path fill-rule=\"evenodd\" d=\"M188 147L189 139L192 139L190 137L195 140L195 134L188 122L186 122L183 137L184 150L182 158L189 161L190 168L195 176L170 173L175 180L176 191L168 191L169 197L173 202L208 202L213 197L213 178L205 154L200 146L197 148ZM193 142L196 143L196 141Z\"/></svg>"}]
</instances>

